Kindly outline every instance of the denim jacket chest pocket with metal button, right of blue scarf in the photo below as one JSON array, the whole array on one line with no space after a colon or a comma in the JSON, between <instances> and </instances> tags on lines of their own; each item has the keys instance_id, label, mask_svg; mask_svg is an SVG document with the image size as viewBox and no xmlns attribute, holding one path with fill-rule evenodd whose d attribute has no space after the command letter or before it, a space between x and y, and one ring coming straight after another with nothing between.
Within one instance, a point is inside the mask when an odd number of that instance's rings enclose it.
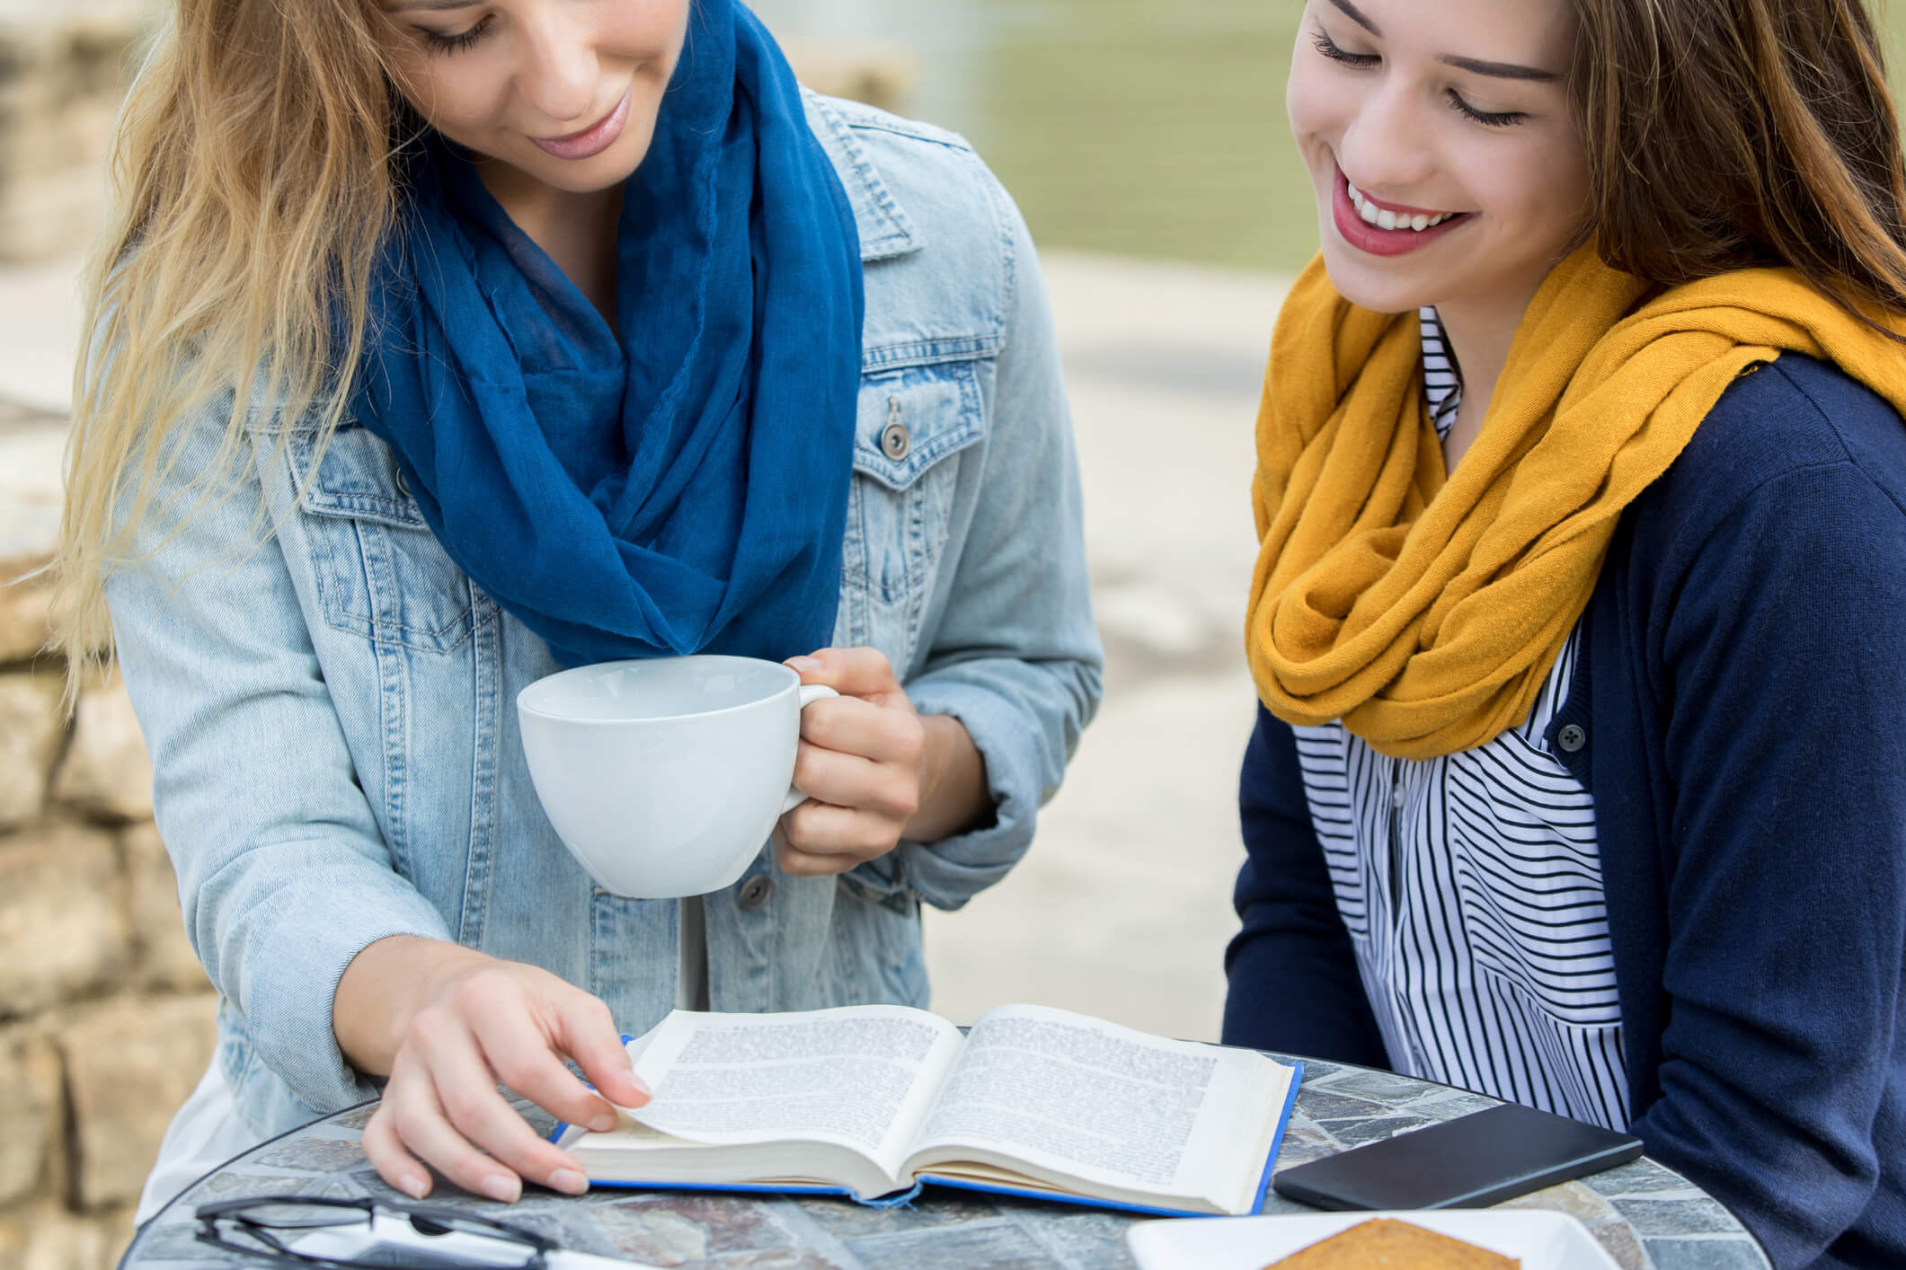
<instances>
[{"instance_id":1,"label":"denim jacket chest pocket with metal button, right of blue scarf","mask_svg":"<svg viewBox=\"0 0 1906 1270\"><path fill-rule=\"evenodd\" d=\"M959 463L985 434L980 364L865 375L854 423L841 632L905 666L947 543Z\"/></svg>"}]
</instances>

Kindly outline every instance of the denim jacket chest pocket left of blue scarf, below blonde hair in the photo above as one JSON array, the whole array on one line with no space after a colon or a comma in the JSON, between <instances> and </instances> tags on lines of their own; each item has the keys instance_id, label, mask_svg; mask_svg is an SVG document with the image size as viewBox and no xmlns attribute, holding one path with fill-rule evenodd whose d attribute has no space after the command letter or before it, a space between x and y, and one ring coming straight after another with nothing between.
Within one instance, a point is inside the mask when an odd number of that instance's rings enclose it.
<instances>
[{"instance_id":1,"label":"denim jacket chest pocket left of blue scarf, below blonde hair","mask_svg":"<svg viewBox=\"0 0 1906 1270\"><path fill-rule=\"evenodd\" d=\"M314 442L311 432L290 438L295 472L311 472ZM305 484L303 510L326 623L429 653L471 636L480 596L436 543L377 436L339 428Z\"/></svg>"}]
</instances>

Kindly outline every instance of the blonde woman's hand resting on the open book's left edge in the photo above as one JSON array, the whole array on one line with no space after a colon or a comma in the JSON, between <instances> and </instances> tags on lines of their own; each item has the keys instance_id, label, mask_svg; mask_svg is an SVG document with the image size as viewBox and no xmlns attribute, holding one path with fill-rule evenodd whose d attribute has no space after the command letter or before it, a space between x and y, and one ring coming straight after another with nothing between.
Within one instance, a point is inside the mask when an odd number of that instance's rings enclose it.
<instances>
[{"instance_id":1,"label":"blonde woman's hand resting on the open book's left edge","mask_svg":"<svg viewBox=\"0 0 1906 1270\"><path fill-rule=\"evenodd\" d=\"M377 941L345 969L334 1022L358 1070L391 1076L364 1125L364 1156L412 1198L431 1190L425 1165L501 1201L517 1200L524 1179L566 1194L589 1188L576 1158L537 1137L497 1093L499 1083L591 1129L614 1127L610 1102L648 1101L598 998L534 965L457 944Z\"/></svg>"}]
</instances>

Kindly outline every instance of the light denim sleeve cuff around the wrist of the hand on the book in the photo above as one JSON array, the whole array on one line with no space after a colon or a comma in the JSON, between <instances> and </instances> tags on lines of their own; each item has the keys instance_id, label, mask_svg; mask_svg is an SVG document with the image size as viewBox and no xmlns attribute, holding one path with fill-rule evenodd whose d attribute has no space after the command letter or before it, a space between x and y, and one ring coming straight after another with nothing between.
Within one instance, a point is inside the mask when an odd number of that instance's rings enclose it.
<instances>
[{"instance_id":1,"label":"light denim sleeve cuff around the wrist of the hand on the book","mask_svg":"<svg viewBox=\"0 0 1906 1270\"><path fill-rule=\"evenodd\" d=\"M351 960L391 935L448 941L442 916L396 874L366 876L362 859L335 847L267 849L273 887L227 935L246 948L242 1000L246 1030L259 1059L299 1101L332 1112L375 1097L332 1030L332 1002Z\"/></svg>"}]
</instances>

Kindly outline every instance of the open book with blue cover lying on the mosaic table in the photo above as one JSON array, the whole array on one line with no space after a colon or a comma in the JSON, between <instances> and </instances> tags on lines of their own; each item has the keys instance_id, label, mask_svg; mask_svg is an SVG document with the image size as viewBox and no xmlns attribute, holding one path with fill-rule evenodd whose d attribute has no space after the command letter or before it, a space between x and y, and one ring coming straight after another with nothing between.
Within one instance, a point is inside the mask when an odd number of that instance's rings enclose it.
<instances>
[{"instance_id":1,"label":"open book with blue cover lying on the mosaic table","mask_svg":"<svg viewBox=\"0 0 1906 1270\"><path fill-rule=\"evenodd\" d=\"M1041 1005L961 1036L902 1005L675 1011L629 1042L656 1091L553 1139L597 1184L846 1192L921 1182L1161 1213L1256 1213L1302 1066Z\"/></svg>"}]
</instances>

